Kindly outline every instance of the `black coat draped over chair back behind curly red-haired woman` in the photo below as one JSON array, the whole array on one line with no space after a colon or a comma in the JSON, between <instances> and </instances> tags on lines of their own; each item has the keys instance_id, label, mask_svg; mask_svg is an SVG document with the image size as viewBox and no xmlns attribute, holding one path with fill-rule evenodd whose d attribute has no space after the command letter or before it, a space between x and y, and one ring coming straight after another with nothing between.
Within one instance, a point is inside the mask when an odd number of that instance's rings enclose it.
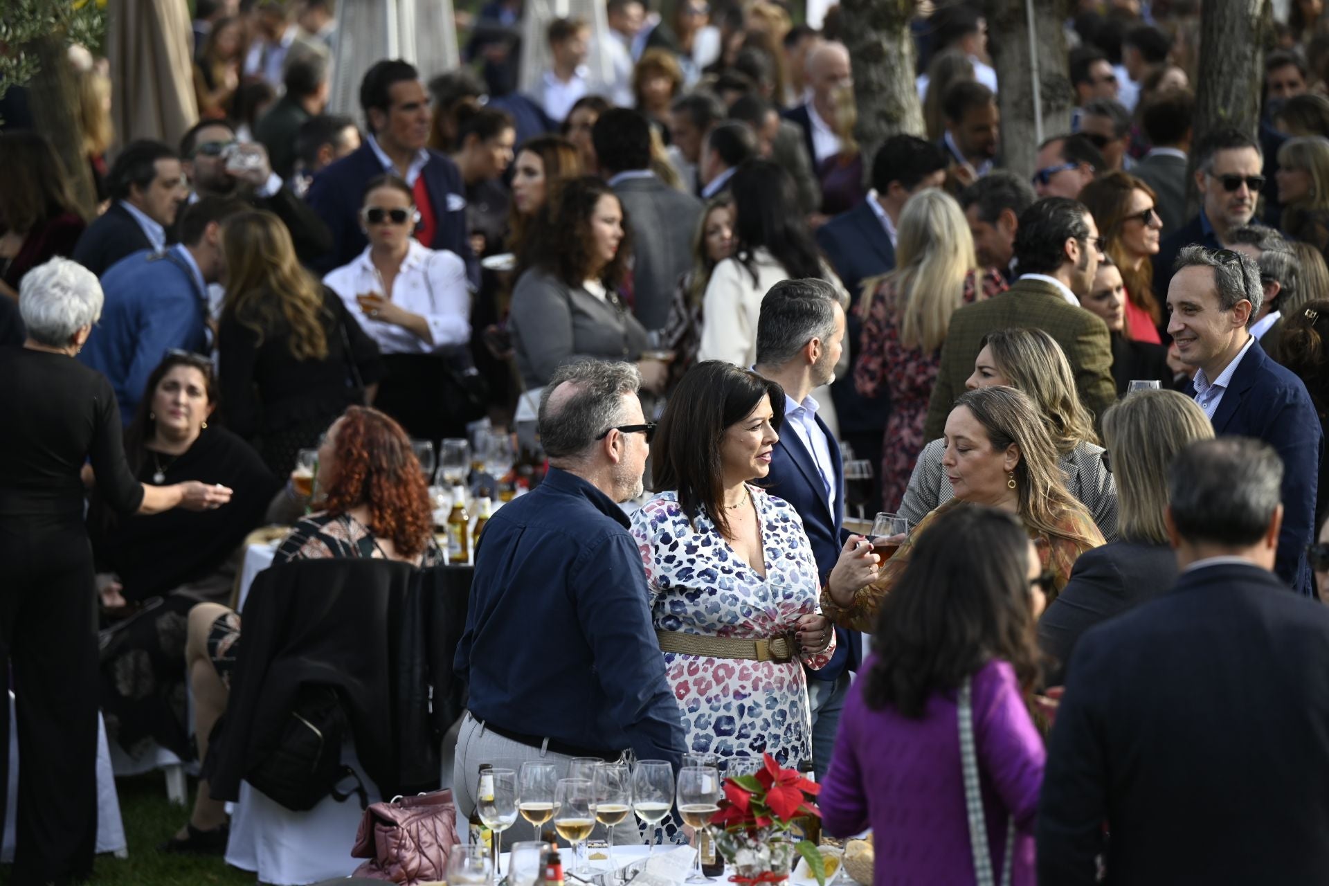
<instances>
[{"instance_id":1,"label":"black coat draped over chair back behind curly red-haired woman","mask_svg":"<svg viewBox=\"0 0 1329 886\"><path fill-rule=\"evenodd\" d=\"M381 559L295 561L259 573L245 603L213 797L239 797L302 684L338 689L356 757L381 796L436 789L440 743L464 705L452 658L470 574Z\"/></svg>"}]
</instances>

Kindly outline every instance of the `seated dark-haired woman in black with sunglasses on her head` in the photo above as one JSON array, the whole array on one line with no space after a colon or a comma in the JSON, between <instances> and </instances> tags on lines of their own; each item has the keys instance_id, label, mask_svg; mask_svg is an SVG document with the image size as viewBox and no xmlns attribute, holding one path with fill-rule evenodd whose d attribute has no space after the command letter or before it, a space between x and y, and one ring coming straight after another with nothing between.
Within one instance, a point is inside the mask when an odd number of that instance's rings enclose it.
<instances>
[{"instance_id":1,"label":"seated dark-haired woman in black with sunglasses on her head","mask_svg":"<svg viewBox=\"0 0 1329 886\"><path fill-rule=\"evenodd\" d=\"M101 651L108 732L130 756L152 740L190 758L185 616L195 603L230 599L235 554L282 490L249 444L209 421L215 408L211 360L167 355L125 430L125 456L140 482L221 482L233 490L230 505L124 519L94 493L88 510L105 615L130 616L112 622Z\"/></svg>"}]
</instances>

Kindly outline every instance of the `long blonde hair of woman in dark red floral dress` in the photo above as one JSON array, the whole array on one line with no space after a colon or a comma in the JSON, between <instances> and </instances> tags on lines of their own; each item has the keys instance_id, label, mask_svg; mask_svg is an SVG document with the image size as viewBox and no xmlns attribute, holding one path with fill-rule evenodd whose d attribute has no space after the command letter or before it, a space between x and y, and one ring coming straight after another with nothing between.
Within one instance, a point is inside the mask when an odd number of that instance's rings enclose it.
<instances>
[{"instance_id":1,"label":"long blonde hair of woman in dark red floral dress","mask_svg":"<svg viewBox=\"0 0 1329 886\"><path fill-rule=\"evenodd\" d=\"M956 198L936 187L914 194L900 214L896 270L878 290L889 299L902 347L926 353L941 347L977 267L974 238Z\"/></svg>"}]
</instances>

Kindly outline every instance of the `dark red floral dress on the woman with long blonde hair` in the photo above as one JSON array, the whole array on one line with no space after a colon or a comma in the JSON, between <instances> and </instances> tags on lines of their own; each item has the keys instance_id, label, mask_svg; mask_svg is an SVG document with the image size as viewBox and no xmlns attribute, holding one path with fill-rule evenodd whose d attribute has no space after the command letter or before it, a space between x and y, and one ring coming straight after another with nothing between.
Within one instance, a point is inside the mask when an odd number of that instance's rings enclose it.
<instances>
[{"instance_id":1,"label":"dark red floral dress on the woman with long blonde hair","mask_svg":"<svg viewBox=\"0 0 1329 886\"><path fill-rule=\"evenodd\" d=\"M965 278L965 304L987 299L1006 288L1001 275L989 268ZM941 349L924 352L900 344L896 320L894 282L884 280L872 294L863 319L863 351L853 369L853 387L864 397L876 397L882 385L890 389L890 416L881 445L881 506L894 510L909 486L909 474L926 440L922 438L928 401L937 385Z\"/></svg>"}]
</instances>

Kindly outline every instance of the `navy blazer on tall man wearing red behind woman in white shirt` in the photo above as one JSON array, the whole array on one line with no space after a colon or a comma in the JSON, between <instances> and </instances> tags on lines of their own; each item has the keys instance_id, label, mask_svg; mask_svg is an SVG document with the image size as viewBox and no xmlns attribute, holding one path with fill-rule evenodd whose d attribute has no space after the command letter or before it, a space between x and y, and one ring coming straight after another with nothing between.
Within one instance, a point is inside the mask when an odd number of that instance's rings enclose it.
<instances>
[{"instance_id":1,"label":"navy blazer on tall man wearing red behind woman in white shirt","mask_svg":"<svg viewBox=\"0 0 1329 886\"><path fill-rule=\"evenodd\" d=\"M435 215L433 242L427 246L460 255L466 263L466 275L472 284L478 286L480 264L470 251L470 238L466 236L466 187L461 182L457 165L431 149L429 162L420 174L424 175ZM367 141L314 177L304 199L332 232L332 250L323 258L310 262L310 267L319 275L348 264L369 244L364 231L360 230L360 206L364 199L364 186L379 175L383 175L383 166Z\"/></svg>"}]
</instances>

